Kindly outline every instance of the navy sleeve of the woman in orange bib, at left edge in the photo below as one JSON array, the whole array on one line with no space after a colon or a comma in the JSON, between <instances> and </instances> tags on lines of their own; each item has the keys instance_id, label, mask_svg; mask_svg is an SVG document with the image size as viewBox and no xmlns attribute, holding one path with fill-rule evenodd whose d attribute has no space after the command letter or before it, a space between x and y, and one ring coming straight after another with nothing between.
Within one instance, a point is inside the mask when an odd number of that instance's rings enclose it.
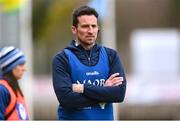
<instances>
[{"instance_id":1,"label":"navy sleeve of the woman in orange bib, at left edge","mask_svg":"<svg viewBox=\"0 0 180 121\"><path fill-rule=\"evenodd\" d=\"M0 120L5 120L5 110L10 102L8 90L0 84Z\"/></svg>"}]
</instances>

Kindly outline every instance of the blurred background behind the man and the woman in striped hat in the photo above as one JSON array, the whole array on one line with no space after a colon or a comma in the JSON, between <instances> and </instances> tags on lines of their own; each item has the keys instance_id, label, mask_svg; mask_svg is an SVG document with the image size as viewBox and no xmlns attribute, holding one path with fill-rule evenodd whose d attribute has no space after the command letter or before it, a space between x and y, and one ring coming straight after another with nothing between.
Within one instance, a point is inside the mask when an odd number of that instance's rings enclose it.
<instances>
[{"instance_id":1,"label":"blurred background behind the man and the woman in striped hat","mask_svg":"<svg viewBox=\"0 0 180 121\"><path fill-rule=\"evenodd\" d=\"M100 14L98 42L116 49L127 77L116 119L180 119L180 0L0 0L0 47L20 47L31 119L56 120L53 56L73 39L72 11Z\"/></svg>"}]
</instances>

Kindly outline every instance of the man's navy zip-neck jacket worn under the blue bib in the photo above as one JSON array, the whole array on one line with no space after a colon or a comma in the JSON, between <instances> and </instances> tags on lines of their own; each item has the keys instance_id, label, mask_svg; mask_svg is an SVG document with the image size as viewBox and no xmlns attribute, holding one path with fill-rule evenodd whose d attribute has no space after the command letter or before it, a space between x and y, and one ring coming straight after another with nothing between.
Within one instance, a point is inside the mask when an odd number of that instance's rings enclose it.
<instances>
[{"instance_id":1,"label":"man's navy zip-neck jacket worn under the blue bib","mask_svg":"<svg viewBox=\"0 0 180 121\"><path fill-rule=\"evenodd\" d=\"M66 47L71 50L77 58L85 65L93 66L98 62L99 50L101 45L95 44L91 50L85 50L81 45L76 46L75 41ZM99 102L122 102L126 92L126 78L123 66L118 53L110 48L105 50L108 54L110 73L120 73L124 78L120 86L114 87L97 87L94 85L84 84L83 94L72 91L71 75L69 70L68 57L64 51L59 52L53 58L52 76L53 87L57 99L61 106L66 108L82 108L96 105Z\"/></svg>"}]
</instances>

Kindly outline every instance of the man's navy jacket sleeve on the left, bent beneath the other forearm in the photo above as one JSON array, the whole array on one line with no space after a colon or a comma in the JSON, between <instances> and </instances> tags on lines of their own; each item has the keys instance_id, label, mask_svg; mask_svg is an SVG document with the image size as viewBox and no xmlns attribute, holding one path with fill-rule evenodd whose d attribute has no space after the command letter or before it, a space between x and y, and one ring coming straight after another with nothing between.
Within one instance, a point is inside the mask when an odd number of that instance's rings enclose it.
<instances>
[{"instance_id":1,"label":"man's navy jacket sleeve on the left, bent beneath the other forearm","mask_svg":"<svg viewBox=\"0 0 180 121\"><path fill-rule=\"evenodd\" d=\"M82 108L97 104L97 101L72 91L68 59L64 51L53 58L52 76L54 91L61 106Z\"/></svg>"}]
</instances>

